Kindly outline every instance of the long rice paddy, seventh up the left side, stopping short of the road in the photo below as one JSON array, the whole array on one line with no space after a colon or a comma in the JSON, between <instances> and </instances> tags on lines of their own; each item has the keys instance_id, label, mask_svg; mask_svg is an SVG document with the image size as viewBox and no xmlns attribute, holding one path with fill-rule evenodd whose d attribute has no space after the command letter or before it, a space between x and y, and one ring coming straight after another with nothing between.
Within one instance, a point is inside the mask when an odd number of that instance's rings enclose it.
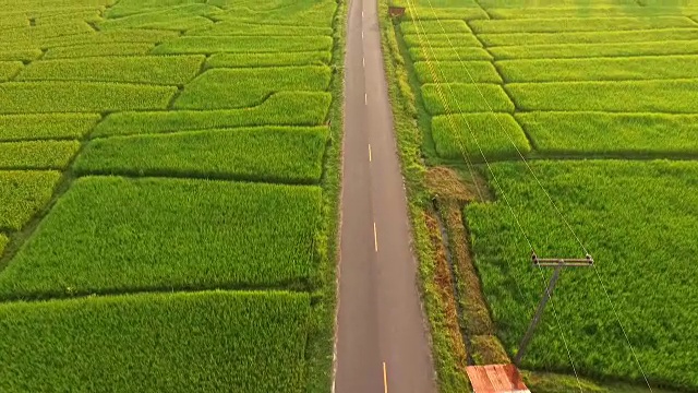
<instances>
[{"instance_id":1,"label":"long rice paddy, seventh up the left side, stopping short of the road","mask_svg":"<svg viewBox=\"0 0 698 393\"><path fill-rule=\"evenodd\" d=\"M137 56L35 61L16 80L179 85L194 79L205 60L204 56Z\"/></svg>"}]
</instances>

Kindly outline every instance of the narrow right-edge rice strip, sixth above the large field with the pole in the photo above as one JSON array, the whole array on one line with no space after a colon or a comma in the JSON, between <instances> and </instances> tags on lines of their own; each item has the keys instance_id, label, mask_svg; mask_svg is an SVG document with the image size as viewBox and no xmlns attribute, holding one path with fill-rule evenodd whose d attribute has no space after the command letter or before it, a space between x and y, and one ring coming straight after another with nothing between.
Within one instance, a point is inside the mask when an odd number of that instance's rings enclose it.
<instances>
[{"instance_id":1,"label":"narrow right-edge rice strip, sixth above the large field with the pole","mask_svg":"<svg viewBox=\"0 0 698 393\"><path fill-rule=\"evenodd\" d=\"M472 21L470 26L476 33L561 33L698 27L686 16L490 20Z\"/></svg>"}]
</instances>

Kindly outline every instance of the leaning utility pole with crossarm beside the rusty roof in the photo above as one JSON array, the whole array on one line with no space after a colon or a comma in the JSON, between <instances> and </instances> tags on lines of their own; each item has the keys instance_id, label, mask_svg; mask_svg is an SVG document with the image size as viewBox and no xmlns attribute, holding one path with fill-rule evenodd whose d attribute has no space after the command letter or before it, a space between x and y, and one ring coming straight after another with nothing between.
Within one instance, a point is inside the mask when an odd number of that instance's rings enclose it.
<instances>
[{"instance_id":1,"label":"leaning utility pole with crossarm beside the rusty roof","mask_svg":"<svg viewBox=\"0 0 698 393\"><path fill-rule=\"evenodd\" d=\"M541 301L538 303L538 309L535 310L535 314L533 315L533 320L531 324L528 326L524 338L521 340L521 344L519 344L519 350L516 353L516 357L514 358L514 364L516 366L520 366L521 358L526 355L526 349L528 347L529 342L533 338L533 333L535 332L535 327L538 327L538 323L541 321L541 317L543 317L543 310L545 309L545 305L553 296L553 289L555 289L555 285L559 279L559 274L563 272L564 267L589 267L593 266L593 258L587 254L586 258L582 259L562 259L562 258L547 258L541 259L538 258L535 252L531 253L531 259L533 260L533 266L537 267L554 267L553 276L547 283L547 287L545 288L545 293L541 298Z\"/></svg>"}]
</instances>

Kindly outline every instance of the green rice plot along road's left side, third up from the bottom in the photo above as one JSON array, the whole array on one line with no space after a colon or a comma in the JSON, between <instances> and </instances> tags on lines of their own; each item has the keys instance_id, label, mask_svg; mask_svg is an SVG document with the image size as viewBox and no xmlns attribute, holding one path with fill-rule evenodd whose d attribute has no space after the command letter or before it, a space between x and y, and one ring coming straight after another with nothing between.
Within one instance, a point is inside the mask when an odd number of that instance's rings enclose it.
<instances>
[{"instance_id":1,"label":"green rice plot along road's left side, third up from the bottom","mask_svg":"<svg viewBox=\"0 0 698 393\"><path fill-rule=\"evenodd\" d=\"M327 135L326 127L262 127L97 139L81 153L74 169L79 174L317 183Z\"/></svg>"}]
</instances>

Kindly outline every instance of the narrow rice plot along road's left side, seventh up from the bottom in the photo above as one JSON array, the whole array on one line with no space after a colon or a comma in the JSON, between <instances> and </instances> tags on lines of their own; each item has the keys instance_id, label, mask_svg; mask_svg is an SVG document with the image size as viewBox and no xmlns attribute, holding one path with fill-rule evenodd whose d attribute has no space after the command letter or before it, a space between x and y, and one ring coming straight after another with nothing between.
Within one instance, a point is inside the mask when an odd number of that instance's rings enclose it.
<instances>
[{"instance_id":1,"label":"narrow rice plot along road's left side, seventh up from the bottom","mask_svg":"<svg viewBox=\"0 0 698 393\"><path fill-rule=\"evenodd\" d=\"M234 36L188 36L157 46L154 55L204 53L217 52L290 52L330 50L332 37L327 36L269 36L260 37Z\"/></svg>"}]
</instances>

